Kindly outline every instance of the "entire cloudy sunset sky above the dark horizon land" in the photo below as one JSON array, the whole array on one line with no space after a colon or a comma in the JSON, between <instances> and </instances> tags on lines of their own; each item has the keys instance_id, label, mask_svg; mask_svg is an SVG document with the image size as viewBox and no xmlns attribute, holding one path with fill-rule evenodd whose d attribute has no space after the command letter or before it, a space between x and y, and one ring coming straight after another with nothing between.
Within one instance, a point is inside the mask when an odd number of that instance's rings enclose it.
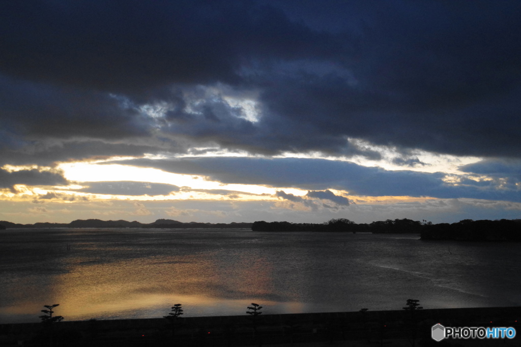
<instances>
[{"instance_id":1,"label":"entire cloudy sunset sky above the dark horizon land","mask_svg":"<svg viewBox=\"0 0 521 347\"><path fill-rule=\"evenodd\" d=\"M521 218L521 2L0 2L0 220Z\"/></svg>"}]
</instances>

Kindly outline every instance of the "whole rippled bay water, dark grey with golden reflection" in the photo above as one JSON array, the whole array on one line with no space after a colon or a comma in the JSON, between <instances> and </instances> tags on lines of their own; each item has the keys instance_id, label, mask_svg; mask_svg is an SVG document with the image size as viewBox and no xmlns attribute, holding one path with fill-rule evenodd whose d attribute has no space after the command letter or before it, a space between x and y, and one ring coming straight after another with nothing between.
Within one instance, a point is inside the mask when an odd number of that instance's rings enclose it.
<instances>
[{"instance_id":1,"label":"whole rippled bay water, dark grey with golden reflection","mask_svg":"<svg viewBox=\"0 0 521 347\"><path fill-rule=\"evenodd\" d=\"M246 229L0 232L0 323L521 305L518 243ZM68 249L67 246L70 246Z\"/></svg>"}]
</instances>

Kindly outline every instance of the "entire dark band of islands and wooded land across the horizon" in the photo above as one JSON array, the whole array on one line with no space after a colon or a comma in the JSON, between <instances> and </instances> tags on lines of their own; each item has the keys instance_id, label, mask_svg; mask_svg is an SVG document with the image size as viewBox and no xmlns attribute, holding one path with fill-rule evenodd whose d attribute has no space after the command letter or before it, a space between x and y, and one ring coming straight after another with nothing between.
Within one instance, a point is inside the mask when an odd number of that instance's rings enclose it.
<instances>
[{"instance_id":1,"label":"entire dark band of islands and wooded land across the horizon","mask_svg":"<svg viewBox=\"0 0 521 347\"><path fill-rule=\"evenodd\" d=\"M427 221L395 219L377 221L370 224L357 224L348 219L332 219L328 222L290 223L182 223L174 220L158 219L153 223L102 221L97 219L75 220L70 223L16 224L0 221L0 229L16 228L161 228L161 229L250 229L254 232L335 232L335 233L373 233L373 234L418 234L422 240L456 241L521 241L521 220L462 220L457 223L432 224Z\"/></svg>"}]
</instances>

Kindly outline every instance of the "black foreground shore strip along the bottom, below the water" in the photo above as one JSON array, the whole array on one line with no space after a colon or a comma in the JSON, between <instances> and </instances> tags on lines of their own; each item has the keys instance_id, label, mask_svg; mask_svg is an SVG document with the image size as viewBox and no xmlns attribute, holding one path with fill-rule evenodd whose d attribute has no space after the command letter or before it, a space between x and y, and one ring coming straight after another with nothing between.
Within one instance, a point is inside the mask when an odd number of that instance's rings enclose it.
<instances>
[{"instance_id":1,"label":"black foreground shore strip along the bottom, below the water","mask_svg":"<svg viewBox=\"0 0 521 347\"><path fill-rule=\"evenodd\" d=\"M417 339L430 340L430 328L440 323L449 327L513 327L521 332L521 306L477 307L366 312L328 312L261 315L257 335L252 338L250 317L184 317L175 336L164 318L66 320L53 325L57 345L249 345L327 341L395 340L407 338L414 326ZM42 323L0 324L0 345L39 345L46 331ZM414 330L413 329L413 330ZM48 332L48 331L47 331ZM453 340L457 341L457 340ZM11 344L10 344L11 343Z\"/></svg>"}]
</instances>

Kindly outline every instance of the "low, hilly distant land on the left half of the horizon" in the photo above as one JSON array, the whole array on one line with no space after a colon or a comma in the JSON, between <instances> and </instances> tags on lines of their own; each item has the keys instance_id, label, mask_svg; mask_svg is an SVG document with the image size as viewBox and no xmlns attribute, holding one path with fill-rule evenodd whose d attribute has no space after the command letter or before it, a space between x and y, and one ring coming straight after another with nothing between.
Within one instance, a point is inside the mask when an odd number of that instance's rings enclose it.
<instances>
[{"instance_id":1,"label":"low, hilly distant land on the left half of the horizon","mask_svg":"<svg viewBox=\"0 0 521 347\"><path fill-rule=\"evenodd\" d=\"M102 221L97 219L76 220L70 223L34 223L17 224L0 221L0 229L5 228L251 228L252 223L182 223L174 220L158 219L153 223L140 223L137 221Z\"/></svg>"}]
</instances>

